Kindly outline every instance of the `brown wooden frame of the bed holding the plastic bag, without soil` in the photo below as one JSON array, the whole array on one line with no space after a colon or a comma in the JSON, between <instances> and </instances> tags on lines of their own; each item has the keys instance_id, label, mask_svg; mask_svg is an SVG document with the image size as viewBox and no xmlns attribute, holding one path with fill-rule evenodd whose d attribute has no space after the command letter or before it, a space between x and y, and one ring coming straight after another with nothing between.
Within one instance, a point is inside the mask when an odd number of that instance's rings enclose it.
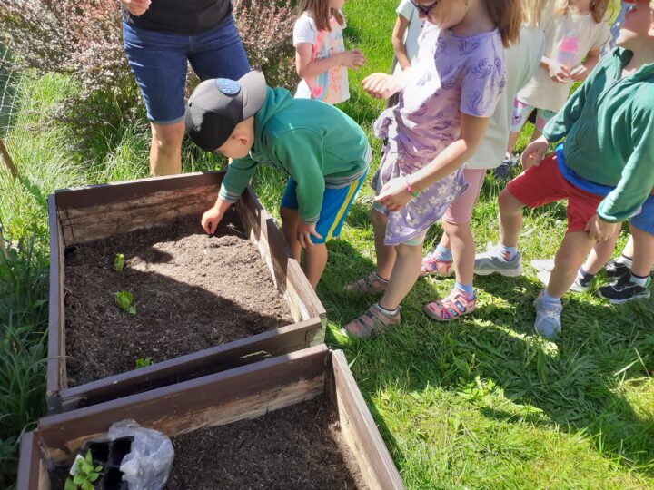
<instances>
[{"instance_id":1,"label":"brown wooden frame of the bed holding the plastic bag, without soil","mask_svg":"<svg viewBox=\"0 0 654 490\"><path fill-rule=\"evenodd\" d=\"M342 351L324 345L39 420L21 439L18 490L49 488L84 440L132 418L167 436L261 417L327 392L371 489L404 488Z\"/></svg>"}]
</instances>

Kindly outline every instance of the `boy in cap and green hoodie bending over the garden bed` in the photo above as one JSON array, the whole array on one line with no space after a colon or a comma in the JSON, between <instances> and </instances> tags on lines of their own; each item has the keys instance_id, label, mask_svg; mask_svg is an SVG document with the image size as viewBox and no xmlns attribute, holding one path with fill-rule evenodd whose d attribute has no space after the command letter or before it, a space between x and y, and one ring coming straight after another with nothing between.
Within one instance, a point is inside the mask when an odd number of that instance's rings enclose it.
<instances>
[{"instance_id":1,"label":"boy in cap and green hoodie bending over the garden bed","mask_svg":"<svg viewBox=\"0 0 654 490\"><path fill-rule=\"evenodd\" d=\"M304 271L315 288L327 263L325 242L341 232L368 171L371 150L359 125L330 104L267 87L260 71L200 83L185 120L195 144L233 159L218 199L203 214L203 229L216 230L260 163L281 169L289 176L282 230L295 259L304 249Z\"/></svg>"}]
</instances>

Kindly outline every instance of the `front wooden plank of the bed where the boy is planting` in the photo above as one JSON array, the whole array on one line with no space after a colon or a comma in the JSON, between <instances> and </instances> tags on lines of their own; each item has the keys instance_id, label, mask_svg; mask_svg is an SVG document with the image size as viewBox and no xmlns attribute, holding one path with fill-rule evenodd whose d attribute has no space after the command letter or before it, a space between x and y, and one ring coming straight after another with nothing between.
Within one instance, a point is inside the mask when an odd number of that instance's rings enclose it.
<instances>
[{"instance_id":1,"label":"front wooden plank of the bed where the boy is planting","mask_svg":"<svg viewBox=\"0 0 654 490\"><path fill-rule=\"evenodd\" d=\"M60 393L61 410L69 411L134 395L141 388L155 389L165 384L177 384L194 377L207 376L216 372L207 368L222 363L225 370L261 360L263 357L275 357L294 350L313 347L324 338L321 319L308 319L282 328L274 328L252 337L227 342L221 346L207 348L178 358L164 360L146 368L134 369L111 377L104 377L78 387L71 387ZM257 357L257 354L262 356ZM252 360L248 359L251 358ZM202 372L204 370L204 372ZM159 386L152 386L160 383ZM146 387L151 385L151 387Z\"/></svg>"}]
</instances>

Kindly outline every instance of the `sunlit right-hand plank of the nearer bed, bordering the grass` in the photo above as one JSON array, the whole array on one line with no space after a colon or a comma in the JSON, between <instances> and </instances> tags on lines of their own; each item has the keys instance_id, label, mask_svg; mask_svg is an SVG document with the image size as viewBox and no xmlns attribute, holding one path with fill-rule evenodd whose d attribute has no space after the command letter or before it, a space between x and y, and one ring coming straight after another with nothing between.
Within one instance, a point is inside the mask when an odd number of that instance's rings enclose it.
<instances>
[{"instance_id":1,"label":"sunlit right-hand plank of the nearer bed, bordering the grass","mask_svg":"<svg viewBox=\"0 0 654 490\"><path fill-rule=\"evenodd\" d=\"M403 490L405 487L400 473L352 377L342 350L332 351L332 369L343 436L352 448L366 483L372 489Z\"/></svg>"}]
</instances>

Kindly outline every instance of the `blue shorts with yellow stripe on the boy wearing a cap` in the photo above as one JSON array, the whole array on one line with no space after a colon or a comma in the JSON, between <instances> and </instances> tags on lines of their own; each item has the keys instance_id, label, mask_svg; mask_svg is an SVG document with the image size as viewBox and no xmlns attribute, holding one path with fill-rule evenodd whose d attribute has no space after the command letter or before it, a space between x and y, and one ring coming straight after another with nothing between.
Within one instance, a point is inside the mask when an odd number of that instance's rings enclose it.
<instances>
[{"instance_id":1,"label":"blue shorts with yellow stripe on the boy wearing a cap","mask_svg":"<svg viewBox=\"0 0 654 490\"><path fill-rule=\"evenodd\" d=\"M322 239L312 236L313 243L325 243L341 234L342 225L345 222L347 213L350 212L356 193L361 189L363 180L367 174L368 171L366 170L360 179L352 181L351 184L345 187L324 190L322 194L322 208L318 222L316 223L316 231L322 236ZM283 208L289 210L298 210L300 208L295 192L296 189L297 182L289 178L282 197Z\"/></svg>"}]
</instances>

